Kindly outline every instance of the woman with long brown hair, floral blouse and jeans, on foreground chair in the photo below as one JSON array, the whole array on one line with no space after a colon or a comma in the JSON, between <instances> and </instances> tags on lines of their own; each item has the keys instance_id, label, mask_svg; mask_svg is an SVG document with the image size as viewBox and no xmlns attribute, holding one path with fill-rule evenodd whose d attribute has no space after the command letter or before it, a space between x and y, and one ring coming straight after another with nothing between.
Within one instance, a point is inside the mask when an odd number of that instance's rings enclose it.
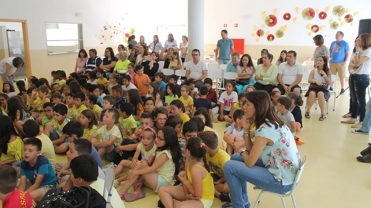
<instances>
[{"instance_id":1,"label":"woman with long brown hair, floral blouse and jeans, on foreground chair","mask_svg":"<svg viewBox=\"0 0 371 208\"><path fill-rule=\"evenodd\" d=\"M233 207L250 207L246 182L271 192L291 191L299 168L294 137L273 111L269 94L246 93L244 111L246 149L232 155L223 166ZM252 124L256 126L254 143L250 137Z\"/></svg>"}]
</instances>

